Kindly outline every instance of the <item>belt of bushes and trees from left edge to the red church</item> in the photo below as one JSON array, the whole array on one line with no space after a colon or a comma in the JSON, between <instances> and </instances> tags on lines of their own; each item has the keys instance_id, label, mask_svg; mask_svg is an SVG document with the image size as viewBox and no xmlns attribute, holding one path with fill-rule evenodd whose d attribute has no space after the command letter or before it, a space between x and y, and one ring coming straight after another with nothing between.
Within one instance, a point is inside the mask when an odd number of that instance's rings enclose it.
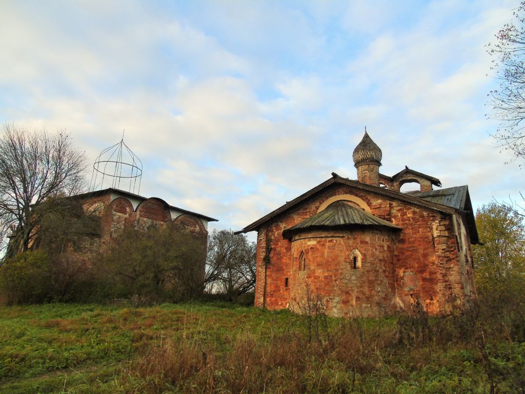
<instances>
[{"instance_id":1,"label":"belt of bushes and trees from left edge to the red church","mask_svg":"<svg viewBox=\"0 0 525 394\"><path fill-rule=\"evenodd\" d=\"M0 284L6 284L0 286L0 304L140 296L150 303L220 299L253 305L255 244L243 235L214 231L206 245L202 235L172 222L126 226L93 255L86 249L100 236L100 216L84 213L71 199L53 198L43 205L47 213L34 240L36 251L0 262ZM36 283L44 284L29 294Z\"/></svg>"}]
</instances>

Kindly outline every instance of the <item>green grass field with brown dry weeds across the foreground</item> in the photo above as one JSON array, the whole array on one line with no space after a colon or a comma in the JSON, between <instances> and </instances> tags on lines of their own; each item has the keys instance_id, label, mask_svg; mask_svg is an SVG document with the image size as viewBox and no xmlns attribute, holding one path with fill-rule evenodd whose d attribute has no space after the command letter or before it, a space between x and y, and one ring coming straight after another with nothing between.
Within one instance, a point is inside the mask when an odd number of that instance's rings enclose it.
<instances>
[{"instance_id":1,"label":"green grass field with brown dry weeds across the foreground","mask_svg":"<svg viewBox=\"0 0 525 394\"><path fill-rule=\"evenodd\" d=\"M525 390L525 343L447 341L443 322L434 334L404 324L400 340L395 318L227 304L1 307L0 393Z\"/></svg>"}]
</instances>

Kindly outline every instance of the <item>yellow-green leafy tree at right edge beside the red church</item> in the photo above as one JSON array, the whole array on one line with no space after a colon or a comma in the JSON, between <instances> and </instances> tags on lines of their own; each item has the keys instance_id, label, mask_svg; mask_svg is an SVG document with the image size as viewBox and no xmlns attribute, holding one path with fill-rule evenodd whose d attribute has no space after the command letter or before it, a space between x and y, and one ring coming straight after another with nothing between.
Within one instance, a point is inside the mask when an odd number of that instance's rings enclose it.
<instances>
[{"instance_id":1,"label":"yellow-green leafy tree at right edge beside the red church","mask_svg":"<svg viewBox=\"0 0 525 394\"><path fill-rule=\"evenodd\" d=\"M525 291L525 223L505 204L490 203L476 213L482 245L472 247L480 295Z\"/></svg>"}]
</instances>

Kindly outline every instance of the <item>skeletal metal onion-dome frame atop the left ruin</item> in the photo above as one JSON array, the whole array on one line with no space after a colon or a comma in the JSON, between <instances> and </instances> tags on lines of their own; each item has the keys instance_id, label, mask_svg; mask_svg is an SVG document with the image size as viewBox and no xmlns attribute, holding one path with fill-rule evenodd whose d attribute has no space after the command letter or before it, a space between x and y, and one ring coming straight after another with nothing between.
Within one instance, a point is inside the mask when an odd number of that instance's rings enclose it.
<instances>
[{"instance_id":1,"label":"skeletal metal onion-dome frame atop the left ruin","mask_svg":"<svg viewBox=\"0 0 525 394\"><path fill-rule=\"evenodd\" d=\"M128 158L123 159L123 154ZM93 164L89 189L93 191L104 189L104 180L106 180L106 187L139 194L141 179L142 162L125 144L122 136L120 142L104 149L98 155Z\"/></svg>"}]
</instances>

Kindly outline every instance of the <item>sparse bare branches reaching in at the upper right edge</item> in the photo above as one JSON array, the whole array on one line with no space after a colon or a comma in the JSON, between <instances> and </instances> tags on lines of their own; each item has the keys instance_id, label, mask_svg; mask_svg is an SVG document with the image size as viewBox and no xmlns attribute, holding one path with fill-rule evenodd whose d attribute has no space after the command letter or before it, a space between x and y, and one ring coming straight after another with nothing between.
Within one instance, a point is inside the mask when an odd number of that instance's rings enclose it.
<instances>
[{"instance_id":1,"label":"sparse bare branches reaching in at the upper right edge","mask_svg":"<svg viewBox=\"0 0 525 394\"><path fill-rule=\"evenodd\" d=\"M495 137L516 158L525 157L525 2L514 10L514 22L496 34L496 43L488 44L492 69L496 70L499 89L491 90L492 114L500 125Z\"/></svg>"}]
</instances>

